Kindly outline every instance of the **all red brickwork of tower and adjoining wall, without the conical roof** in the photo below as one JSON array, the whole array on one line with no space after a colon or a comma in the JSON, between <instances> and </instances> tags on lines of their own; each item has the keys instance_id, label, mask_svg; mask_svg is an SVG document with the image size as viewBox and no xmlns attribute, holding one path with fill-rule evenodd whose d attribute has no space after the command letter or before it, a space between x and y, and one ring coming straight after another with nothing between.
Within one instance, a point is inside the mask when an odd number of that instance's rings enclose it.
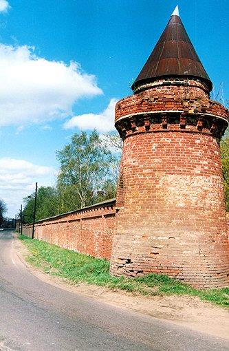
<instances>
[{"instance_id":1,"label":"all red brickwork of tower and adjoining wall, without the conical roof","mask_svg":"<svg viewBox=\"0 0 229 351\"><path fill-rule=\"evenodd\" d=\"M35 236L111 257L113 275L153 272L197 288L227 286L219 151L227 125L228 110L209 100L204 83L166 79L139 87L116 105L124 140L116 202L39 221ZM31 235L31 226L24 232Z\"/></svg>"}]
</instances>

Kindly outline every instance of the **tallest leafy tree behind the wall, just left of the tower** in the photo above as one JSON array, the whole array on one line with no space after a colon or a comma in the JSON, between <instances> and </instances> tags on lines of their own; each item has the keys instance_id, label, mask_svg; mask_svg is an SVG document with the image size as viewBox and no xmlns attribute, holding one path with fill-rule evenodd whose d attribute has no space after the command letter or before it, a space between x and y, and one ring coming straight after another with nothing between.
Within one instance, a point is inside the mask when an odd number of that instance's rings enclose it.
<instances>
[{"instance_id":1,"label":"tallest leafy tree behind the wall, just left of the tower","mask_svg":"<svg viewBox=\"0 0 229 351\"><path fill-rule=\"evenodd\" d=\"M67 211L115 195L118 159L97 131L74 134L69 145L57 151L56 156L61 163L57 187Z\"/></svg>"}]
</instances>

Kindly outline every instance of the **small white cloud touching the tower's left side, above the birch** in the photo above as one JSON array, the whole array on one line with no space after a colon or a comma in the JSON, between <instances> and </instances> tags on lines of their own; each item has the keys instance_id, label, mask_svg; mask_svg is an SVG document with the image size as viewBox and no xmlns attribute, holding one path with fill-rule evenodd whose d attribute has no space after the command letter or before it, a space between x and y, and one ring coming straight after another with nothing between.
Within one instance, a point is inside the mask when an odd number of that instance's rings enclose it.
<instances>
[{"instance_id":1,"label":"small white cloud touching the tower's left side, above the birch","mask_svg":"<svg viewBox=\"0 0 229 351\"><path fill-rule=\"evenodd\" d=\"M118 100L111 98L107 108L101 114L82 114L74 116L64 124L65 129L78 127L81 130L97 129L101 133L115 130L114 127L114 110Z\"/></svg>"}]
</instances>

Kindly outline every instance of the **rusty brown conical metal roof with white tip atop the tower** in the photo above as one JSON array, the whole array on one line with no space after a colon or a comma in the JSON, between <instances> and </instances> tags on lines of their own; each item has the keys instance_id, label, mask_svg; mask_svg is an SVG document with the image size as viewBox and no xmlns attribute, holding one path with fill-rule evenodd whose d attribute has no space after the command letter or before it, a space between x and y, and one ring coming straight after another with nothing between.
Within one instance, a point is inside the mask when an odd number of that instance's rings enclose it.
<instances>
[{"instance_id":1,"label":"rusty brown conical metal roof with white tip atop the tower","mask_svg":"<svg viewBox=\"0 0 229 351\"><path fill-rule=\"evenodd\" d=\"M171 15L153 52L133 83L132 89L135 90L140 85L151 83L156 78L164 76L200 78L206 82L209 90L212 89L212 82L179 17L178 7Z\"/></svg>"}]
</instances>

